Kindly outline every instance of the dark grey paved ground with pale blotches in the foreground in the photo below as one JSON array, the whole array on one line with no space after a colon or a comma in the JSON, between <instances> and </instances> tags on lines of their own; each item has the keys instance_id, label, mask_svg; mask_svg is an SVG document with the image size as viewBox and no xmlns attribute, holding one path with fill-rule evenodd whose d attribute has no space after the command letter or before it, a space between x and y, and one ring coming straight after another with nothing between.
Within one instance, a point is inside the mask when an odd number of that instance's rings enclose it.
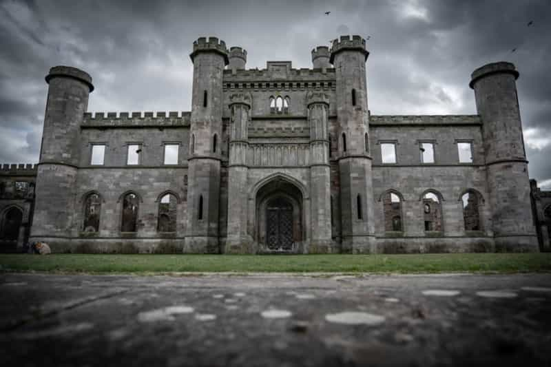
<instances>
[{"instance_id":1,"label":"dark grey paved ground with pale blotches in the foreground","mask_svg":"<svg viewBox=\"0 0 551 367\"><path fill-rule=\"evenodd\" d=\"M549 366L551 275L0 274L0 330L1 366Z\"/></svg>"}]
</instances>

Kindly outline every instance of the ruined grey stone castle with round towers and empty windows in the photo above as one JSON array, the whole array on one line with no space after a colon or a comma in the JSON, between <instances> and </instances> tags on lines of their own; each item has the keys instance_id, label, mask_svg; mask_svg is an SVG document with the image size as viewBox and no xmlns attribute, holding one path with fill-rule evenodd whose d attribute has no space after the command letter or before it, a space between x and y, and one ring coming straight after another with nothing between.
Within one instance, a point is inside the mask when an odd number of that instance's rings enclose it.
<instances>
[{"instance_id":1,"label":"ruined grey stone castle with round towers and empty windows","mask_svg":"<svg viewBox=\"0 0 551 367\"><path fill-rule=\"evenodd\" d=\"M311 54L311 69L246 70L246 50L201 37L191 112L156 114L87 112L92 77L52 67L39 164L0 171L1 235L54 252L549 247L514 65L472 73L476 115L374 116L362 37Z\"/></svg>"}]
</instances>

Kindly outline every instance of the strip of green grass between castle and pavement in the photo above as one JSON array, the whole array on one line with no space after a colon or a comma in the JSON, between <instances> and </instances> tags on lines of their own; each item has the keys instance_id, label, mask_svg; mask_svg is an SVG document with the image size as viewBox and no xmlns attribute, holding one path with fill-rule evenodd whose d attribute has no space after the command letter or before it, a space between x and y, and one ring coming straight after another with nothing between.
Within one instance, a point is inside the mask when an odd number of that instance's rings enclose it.
<instances>
[{"instance_id":1,"label":"strip of green grass between castle and pavement","mask_svg":"<svg viewBox=\"0 0 551 367\"><path fill-rule=\"evenodd\" d=\"M551 253L415 255L0 255L0 271L59 273L550 272Z\"/></svg>"}]
</instances>

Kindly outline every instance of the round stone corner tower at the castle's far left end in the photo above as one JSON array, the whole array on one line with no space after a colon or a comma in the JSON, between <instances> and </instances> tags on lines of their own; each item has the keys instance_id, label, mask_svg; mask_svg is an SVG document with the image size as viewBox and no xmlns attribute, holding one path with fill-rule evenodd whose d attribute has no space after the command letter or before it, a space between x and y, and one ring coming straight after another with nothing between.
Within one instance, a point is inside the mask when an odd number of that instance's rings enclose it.
<instances>
[{"instance_id":1,"label":"round stone corner tower at the castle's far left end","mask_svg":"<svg viewBox=\"0 0 551 367\"><path fill-rule=\"evenodd\" d=\"M94 86L90 75L68 66L52 67L46 82L50 87L30 241L43 240L63 249L70 244L79 211L75 196L81 124Z\"/></svg>"}]
</instances>

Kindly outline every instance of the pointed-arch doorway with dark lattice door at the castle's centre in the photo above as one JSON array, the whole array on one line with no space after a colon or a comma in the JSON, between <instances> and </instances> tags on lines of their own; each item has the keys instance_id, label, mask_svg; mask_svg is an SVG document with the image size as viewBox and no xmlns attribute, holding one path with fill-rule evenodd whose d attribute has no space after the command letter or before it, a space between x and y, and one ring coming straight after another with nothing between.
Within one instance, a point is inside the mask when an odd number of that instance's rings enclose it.
<instances>
[{"instance_id":1,"label":"pointed-arch doorway with dark lattice door at the castle's centre","mask_svg":"<svg viewBox=\"0 0 551 367\"><path fill-rule=\"evenodd\" d=\"M300 252L305 238L302 201L302 191L280 176L258 189L253 237L260 252Z\"/></svg>"}]
</instances>

